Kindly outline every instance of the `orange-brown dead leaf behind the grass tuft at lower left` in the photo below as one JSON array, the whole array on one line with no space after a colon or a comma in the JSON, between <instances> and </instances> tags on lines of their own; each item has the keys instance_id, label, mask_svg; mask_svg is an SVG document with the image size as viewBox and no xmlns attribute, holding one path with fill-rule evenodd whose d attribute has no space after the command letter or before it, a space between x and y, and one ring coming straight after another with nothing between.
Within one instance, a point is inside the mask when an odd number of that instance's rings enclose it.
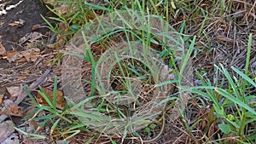
<instances>
[{"instance_id":1,"label":"orange-brown dead leaf behind the grass tuft at lower left","mask_svg":"<svg viewBox=\"0 0 256 144\"><path fill-rule=\"evenodd\" d=\"M53 90L44 88L44 91L45 91L46 95L49 96L50 101L53 101ZM49 106L49 104L44 100L44 98L40 94L38 94L36 96L36 100L38 101L38 104L40 104L40 105ZM61 90L57 89L56 107L63 110L65 105L66 105L66 101L63 96L63 93Z\"/></svg>"}]
</instances>

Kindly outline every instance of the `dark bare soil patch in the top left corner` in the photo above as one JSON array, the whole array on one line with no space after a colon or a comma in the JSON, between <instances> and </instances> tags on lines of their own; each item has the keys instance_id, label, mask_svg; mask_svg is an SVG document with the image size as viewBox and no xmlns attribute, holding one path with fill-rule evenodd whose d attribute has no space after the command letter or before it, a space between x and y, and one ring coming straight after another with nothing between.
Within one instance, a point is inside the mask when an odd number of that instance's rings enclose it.
<instances>
[{"instance_id":1,"label":"dark bare soil patch in the top left corner","mask_svg":"<svg viewBox=\"0 0 256 144\"><path fill-rule=\"evenodd\" d=\"M20 0L12 0L10 4L18 3ZM7 14L3 14L0 18L1 28L0 36L3 47L6 50L12 49L24 49L18 42L21 37L24 37L27 33L32 32L32 26L40 25L47 26L41 15L53 16L49 12L49 9L45 8L40 1L26 0L20 3L15 9L7 11ZM9 26L14 21L24 20L23 26ZM48 28L40 28L37 32L49 32Z\"/></svg>"}]
</instances>

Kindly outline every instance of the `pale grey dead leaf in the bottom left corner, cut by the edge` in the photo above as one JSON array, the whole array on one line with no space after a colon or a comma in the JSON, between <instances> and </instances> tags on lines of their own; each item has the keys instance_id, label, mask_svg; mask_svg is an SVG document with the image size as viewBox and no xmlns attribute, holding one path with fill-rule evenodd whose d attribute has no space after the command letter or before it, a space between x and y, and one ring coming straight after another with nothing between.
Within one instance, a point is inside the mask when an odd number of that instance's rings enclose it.
<instances>
[{"instance_id":1,"label":"pale grey dead leaf in the bottom left corner, cut by the edge","mask_svg":"<svg viewBox=\"0 0 256 144\"><path fill-rule=\"evenodd\" d=\"M0 142L3 142L9 135L15 132L14 126L15 124L10 120L0 124Z\"/></svg>"}]
</instances>

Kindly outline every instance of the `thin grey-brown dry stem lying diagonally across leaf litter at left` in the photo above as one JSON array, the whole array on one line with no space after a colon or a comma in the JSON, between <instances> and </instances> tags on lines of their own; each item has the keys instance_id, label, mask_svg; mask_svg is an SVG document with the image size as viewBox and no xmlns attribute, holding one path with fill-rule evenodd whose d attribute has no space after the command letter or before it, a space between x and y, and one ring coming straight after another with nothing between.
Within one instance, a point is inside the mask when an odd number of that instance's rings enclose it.
<instances>
[{"instance_id":1,"label":"thin grey-brown dry stem lying diagonally across leaf litter at left","mask_svg":"<svg viewBox=\"0 0 256 144\"><path fill-rule=\"evenodd\" d=\"M33 90L33 89L37 89L38 86L40 84L44 84L47 76L49 75L51 68L48 68L44 74L39 77L35 82L33 82L27 89L28 90ZM21 101L23 101L26 98L26 91L24 89L20 89L20 95L18 96L17 100L14 102L16 105L19 105ZM6 118L8 118L9 116L6 114L3 114L0 116L0 123L3 122L3 120L5 120Z\"/></svg>"}]
</instances>

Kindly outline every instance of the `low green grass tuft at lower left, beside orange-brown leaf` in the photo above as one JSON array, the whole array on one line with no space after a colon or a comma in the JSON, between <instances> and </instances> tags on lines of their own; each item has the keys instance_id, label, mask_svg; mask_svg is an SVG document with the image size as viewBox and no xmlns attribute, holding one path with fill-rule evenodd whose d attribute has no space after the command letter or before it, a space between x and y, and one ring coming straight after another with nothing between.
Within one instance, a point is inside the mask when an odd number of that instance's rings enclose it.
<instances>
[{"instance_id":1,"label":"low green grass tuft at lower left, beside orange-brown leaf","mask_svg":"<svg viewBox=\"0 0 256 144\"><path fill-rule=\"evenodd\" d=\"M50 137L51 140L65 140L67 141L69 138L74 135L79 134L81 130L84 130L84 125L81 125L79 121L76 120L72 115L67 106L64 109L58 109L56 97L57 97L57 78L55 77L54 89L53 89L53 98L50 98L47 95L42 87L39 87L38 94L44 98L44 101L47 102L48 106L38 104L38 101L34 98L34 96L27 90L26 93L32 100L32 107L34 110L26 115L23 120L25 120L25 124L29 124L32 121L35 121L38 124L37 130L33 130L32 132L26 132L24 130L15 128L21 134L29 136L32 139L46 139ZM45 112L44 116L40 116L40 112ZM42 135L41 130L46 130L45 132L49 135ZM47 131L49 130L49 131Z\"/></svg>"}]
</instances>

